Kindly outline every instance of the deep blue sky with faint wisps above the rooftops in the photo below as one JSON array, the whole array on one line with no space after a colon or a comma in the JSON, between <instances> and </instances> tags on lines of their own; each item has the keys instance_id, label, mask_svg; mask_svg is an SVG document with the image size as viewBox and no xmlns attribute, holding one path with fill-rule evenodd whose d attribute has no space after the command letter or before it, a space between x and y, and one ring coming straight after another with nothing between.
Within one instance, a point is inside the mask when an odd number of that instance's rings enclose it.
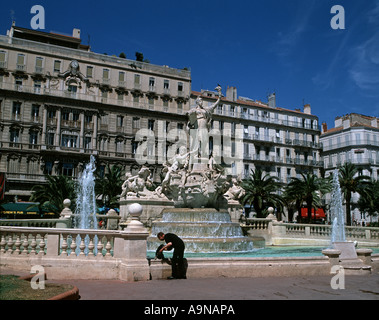
<instances>
[{"instance_id":1,"label":"deep blue sky with faint wisps above the rooftops","mask_svg":"<svg viewBox=\"0 0 379 320\"><path fill-rule=\"evenodd\" d=\"M279 107L310 103L329 127L347 113L379 116L379 0L7 1L0 33L12 19L30 28L35 4L44 31L76 27L94 52L189 67L192 90L220 83L262 101L276 92ZM334 5L344 30L331 28Z\"/></svg>"}]
</instances>

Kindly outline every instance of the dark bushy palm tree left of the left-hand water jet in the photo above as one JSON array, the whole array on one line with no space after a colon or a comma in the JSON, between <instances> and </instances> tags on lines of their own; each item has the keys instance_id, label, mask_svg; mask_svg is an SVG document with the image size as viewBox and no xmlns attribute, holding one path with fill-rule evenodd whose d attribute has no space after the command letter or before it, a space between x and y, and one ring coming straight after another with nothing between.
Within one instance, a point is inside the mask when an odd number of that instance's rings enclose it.
<instances>
[{"instance_id":1,"label":"dark bushy palm tree left of the left-hand water jet","mask_svg":"<svg viewBox=\"0 0 379 320\"><path fill-rule=\"evenodd\" d=\"M39 202L43 211L59 214L63 210L63 200L75 201L75 182L67 176L46 176L47 184L35 185L32 188L30 201Z\"/></svg>"}]
</instances>

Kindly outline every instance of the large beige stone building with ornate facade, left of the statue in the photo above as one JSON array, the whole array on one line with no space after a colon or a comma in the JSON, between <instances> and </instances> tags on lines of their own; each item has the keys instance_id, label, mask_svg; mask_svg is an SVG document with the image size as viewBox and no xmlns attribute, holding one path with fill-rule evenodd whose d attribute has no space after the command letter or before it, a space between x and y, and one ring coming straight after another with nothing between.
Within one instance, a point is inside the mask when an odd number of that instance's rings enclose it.
<instances>
[{"instance_id":1,"label":"large beige stone building with ornate facade, left of the statue","mask_svg":"<svg viewBox=\"0 0 379 320\"><path fill-rule=\"evenodd\" d=\"M143 144L142 156L159 180L168 146L160 139L183 128L190 94L187 69L94 53L81 43L78 29L64 36L12 25L0 36L6 197L27 200L46 174L77 177L90 155L100 170L117 164L135 173Z\"/></svg>"}]
</instances>

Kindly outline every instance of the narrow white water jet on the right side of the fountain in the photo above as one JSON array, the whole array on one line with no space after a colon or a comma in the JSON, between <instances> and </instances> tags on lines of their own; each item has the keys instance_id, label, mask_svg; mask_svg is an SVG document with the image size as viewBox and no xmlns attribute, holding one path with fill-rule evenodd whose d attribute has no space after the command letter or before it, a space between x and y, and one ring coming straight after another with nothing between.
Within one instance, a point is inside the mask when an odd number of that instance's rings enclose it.
<instances>
[{"instance_id":1,"label":"narrow white water jet on the right side of the fountain","mask_svg":"<svg viewBox=\"0 0 379 320\"><path fill-rule=\"evenodd\" d=\"M332 221L332 237L331 242L345 242L345 215L342 207L342 194L340 183L338 181L338 170L333 171L332 182L332 199L330 206Z\"/></svg>"}]
</instances>

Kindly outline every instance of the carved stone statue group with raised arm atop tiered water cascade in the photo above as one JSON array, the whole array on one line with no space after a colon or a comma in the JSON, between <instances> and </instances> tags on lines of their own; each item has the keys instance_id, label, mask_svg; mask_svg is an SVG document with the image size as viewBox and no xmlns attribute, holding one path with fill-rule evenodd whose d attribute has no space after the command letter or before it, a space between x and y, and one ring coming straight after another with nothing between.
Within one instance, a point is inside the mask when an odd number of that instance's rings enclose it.
<instances>
[{"instance_id":1,"label":"carved stone statue group with raised arm atop tiered water cascade","mask_svg":"<svg viewBox=\"0 0 379 320\"><path fill-rule=\"evenodd\" d=\"M149 169L142 167L137 176L127 174L121 194L120 211L138 202L160 208L162 218L152 223L148 251L158 247L157 233L175 233L186 243L186 252L245 252L253 249L239 223L233 223L228 212L230 204L239 205L244 190L240 181L225 174L209 148L212 115L221 101L221 87L216 87L218 98L211 106L204 106L201 97L187 113L189 150L181 146L178 153L163 164L161 186L151 191ZM142 175L142 172L145 174ZM149 190L150 189L150 190ZM153 204L153 205L152 205ZM162 210L163 209L163 210Z\"/></svg>"}]
</instances>

